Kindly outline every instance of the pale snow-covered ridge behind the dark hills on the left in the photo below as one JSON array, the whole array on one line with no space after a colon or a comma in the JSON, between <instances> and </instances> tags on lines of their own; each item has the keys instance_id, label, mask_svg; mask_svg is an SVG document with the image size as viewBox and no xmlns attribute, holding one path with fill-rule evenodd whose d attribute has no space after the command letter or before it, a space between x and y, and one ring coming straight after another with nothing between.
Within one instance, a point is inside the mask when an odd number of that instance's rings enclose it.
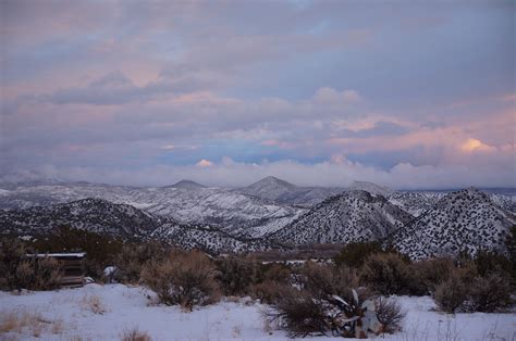
<instances>
[{"instance_id":1,"label":"pale snow-covered ridge behind the dark hills on the left","mask_svg":"<svg viewBox=\"0 0 516 341\"><path fill-rule=\"evenodd\" d=\"M223 188L135 188L87 182L3 190L0 191L0 209L47 206L86 198L128 204L181 224L210 225L245 237L277 230L306 212Z\"/></svg>"}]
</instances>

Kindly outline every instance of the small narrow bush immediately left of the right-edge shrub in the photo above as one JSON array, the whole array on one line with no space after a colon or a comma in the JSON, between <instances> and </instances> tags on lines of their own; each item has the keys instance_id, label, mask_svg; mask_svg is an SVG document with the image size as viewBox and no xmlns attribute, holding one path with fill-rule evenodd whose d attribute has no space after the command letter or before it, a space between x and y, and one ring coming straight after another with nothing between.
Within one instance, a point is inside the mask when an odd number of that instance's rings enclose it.
<instances>
[{"instance_id":1,"label":"small narrow bush immediately left of the right-edge shrub","mask_svg":"<svg viewBox=\"0 0 516 341\"><path fill-rule=\"evenodd\" d=\"M460 275L453 274L435 288L434 300L438 307L446 313L455 313L467 299L467 289Z\"/></svg>"}]
</instances>

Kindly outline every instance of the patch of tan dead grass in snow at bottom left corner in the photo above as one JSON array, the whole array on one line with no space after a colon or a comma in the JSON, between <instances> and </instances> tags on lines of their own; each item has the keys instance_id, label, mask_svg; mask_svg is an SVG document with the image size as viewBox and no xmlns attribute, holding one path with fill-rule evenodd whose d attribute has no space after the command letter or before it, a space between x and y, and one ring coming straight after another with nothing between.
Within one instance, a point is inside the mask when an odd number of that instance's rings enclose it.
<instances>
[{"instance_id":1,"label":"patch of tan dead grass in snow at bottom left corner","mask_svg":"<svg viewBox=\"0 0 516 341\"><path fill-rule=\"evenodd\" d=\"M48 332L61 333L63 329L64 324L61 319L49 320L38 312L15 310L0 313L0 333L2 334L20 333L39 338ZM15 339L14 336L13 339Z\"/></svg>"}]
</instances>

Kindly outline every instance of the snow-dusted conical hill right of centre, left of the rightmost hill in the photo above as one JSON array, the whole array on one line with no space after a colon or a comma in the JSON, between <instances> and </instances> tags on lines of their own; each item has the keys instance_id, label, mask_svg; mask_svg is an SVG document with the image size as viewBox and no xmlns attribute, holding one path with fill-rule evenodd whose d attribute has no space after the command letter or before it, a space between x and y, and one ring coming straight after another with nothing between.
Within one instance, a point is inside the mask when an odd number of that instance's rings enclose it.
<instances>
[{"instance_id":1,"label":"snow-dusted conical hill right of centre, left of the rightmost hill","mask_svg":"<svg viewBox=\"0 0 516 341\"><path fill-rule=\"evenodd\" d=\"M327 199L268 237L281 243L347 243L380 240L414 217L382 195L347 191Z\"/></svg>"}]
</instances>

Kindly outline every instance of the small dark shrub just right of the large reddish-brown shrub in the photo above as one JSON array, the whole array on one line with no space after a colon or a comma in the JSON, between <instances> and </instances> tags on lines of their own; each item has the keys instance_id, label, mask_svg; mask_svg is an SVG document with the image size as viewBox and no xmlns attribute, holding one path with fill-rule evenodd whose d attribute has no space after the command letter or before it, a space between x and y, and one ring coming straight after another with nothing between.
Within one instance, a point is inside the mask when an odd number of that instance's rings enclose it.
<instances>
[{"instance_id":1,"label":"small dark shrub just right of the large reddish-brown shrub","mask_svg":"<svg viewBox=\"0 0 516 341\"><path fill-rule=\"evenodd\" d=\"M255 281L256 266L248 260L238 257L222 258L217 262L217 280L224 295L242 295L249 293Z\"/></svg>"}]
</instances>

